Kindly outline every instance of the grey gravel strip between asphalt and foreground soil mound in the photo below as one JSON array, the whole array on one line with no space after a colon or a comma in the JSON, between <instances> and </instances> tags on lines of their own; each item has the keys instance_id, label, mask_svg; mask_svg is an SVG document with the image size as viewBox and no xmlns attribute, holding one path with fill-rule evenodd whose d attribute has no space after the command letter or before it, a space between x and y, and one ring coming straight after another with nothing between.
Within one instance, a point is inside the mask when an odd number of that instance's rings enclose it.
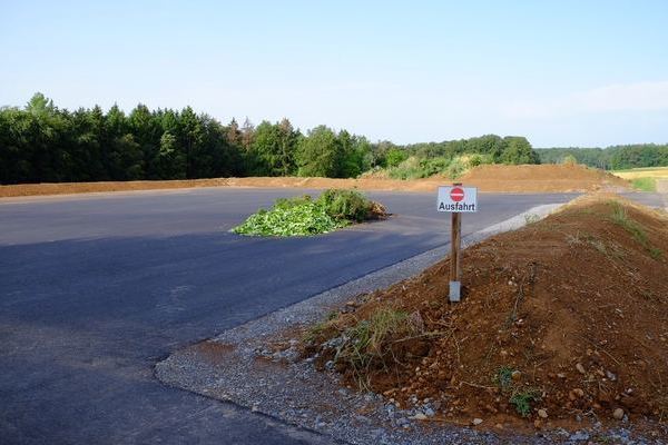
<instances>
[{"instance_id":1,"label":"grey gravel strip between asphalt and foreground soil mound","mask_svg":"<svg viewBox=\"0 0 668 445\"><path fill-rule=\"evenodd\" d=\"M470 246L494 234L517 229L560 206L534 207L464 237L463 244ZM606 443L662 443L660 437L638 438L626 428L602 433L600 425L597 429L593 424L576 433L556 429L518 435L430 422L435 409L429 400L419 407L399 409L377 394L345 388L335 372L321 373L311 362L298 360L296 339L289 340L292 346L285 350L271 349L269 344L279 335L285 337L291 330L322 320L328 310L360 294L414 276L449 250L449 246L438 247L227 330L212 340L177 350L156 365L156 376L167 385L232 402L350 444L576 444L600 437ZM493 425L484 425L483 421L480 427ZM659 433L661 437L664 434Z\"/></svg>"}]
</instances>

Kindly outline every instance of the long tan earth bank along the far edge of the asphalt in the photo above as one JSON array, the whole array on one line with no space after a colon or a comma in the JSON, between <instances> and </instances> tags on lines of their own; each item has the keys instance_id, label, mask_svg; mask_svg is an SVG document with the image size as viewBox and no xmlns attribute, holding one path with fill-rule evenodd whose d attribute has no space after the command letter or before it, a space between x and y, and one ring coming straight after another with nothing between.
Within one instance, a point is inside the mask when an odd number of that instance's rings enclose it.
<instances>
[{"instance_id":1,"label":"long tan earth bank along the far edge of the asphalt","mask_svg":"<svg viewBox=\"0 0 668 445\"><path fill-rule=\"evenodd\" d=\"M480 166L458 181L477 186L480 191L560 192L619 190L628 182L602 170L581 166ZM448 178L418 180L328 179L328 178L214 178L170 181L116 181L78 184L26 184L0 186L0 197L68 195L131 190L158 190L195 187L275 187L275 188L357 188L361 190L433 191L451 184Z\"/></svg>"}]
</instances>

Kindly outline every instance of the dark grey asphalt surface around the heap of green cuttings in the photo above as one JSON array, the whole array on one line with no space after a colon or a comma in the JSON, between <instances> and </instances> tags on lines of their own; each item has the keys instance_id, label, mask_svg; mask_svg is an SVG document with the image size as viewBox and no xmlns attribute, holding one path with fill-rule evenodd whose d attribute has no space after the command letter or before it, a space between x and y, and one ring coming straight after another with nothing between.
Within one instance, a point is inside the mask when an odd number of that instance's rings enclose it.
<instances>
[{"instance_id":1,"label":"dark grey asphalt surface around the heap of green cuttings","mask_svg":"<svg viewBox=\"0 0 668 445\"><path fill-rule=\"evenodd\" d=\"M301 192L0 201L0 443L328 443L153 376L179 346L446 243L448 217L432 194L370 194L396 215L325 236L227 231ZM572 197L482 195L463 231Z\"/></svg>"}]
</instances>

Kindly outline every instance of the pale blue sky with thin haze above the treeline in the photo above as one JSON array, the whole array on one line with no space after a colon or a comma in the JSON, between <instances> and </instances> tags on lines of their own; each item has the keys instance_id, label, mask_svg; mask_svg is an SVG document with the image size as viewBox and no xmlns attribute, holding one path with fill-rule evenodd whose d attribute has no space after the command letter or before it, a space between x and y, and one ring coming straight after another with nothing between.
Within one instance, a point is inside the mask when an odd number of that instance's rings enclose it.
<instances>
[{"instance_id":1,"label":"pale blue sky with thin haze above the treeline","mask_svg":"<svg viewBox=\"0 0 668 445\"><path fill-rule=\"evenodd\" d=\"M0 105L668 142L668 1L0 0Z\"/></svg>"}]
</instances>

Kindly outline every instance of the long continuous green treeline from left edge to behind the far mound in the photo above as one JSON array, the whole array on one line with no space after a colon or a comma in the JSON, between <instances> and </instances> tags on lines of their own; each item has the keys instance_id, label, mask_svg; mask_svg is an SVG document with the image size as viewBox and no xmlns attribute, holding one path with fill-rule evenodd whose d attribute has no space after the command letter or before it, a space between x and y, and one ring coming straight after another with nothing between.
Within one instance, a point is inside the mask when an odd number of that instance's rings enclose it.
<instances>
[{"instance_id":1,"label":"long continuous green treeline from left edge to behind the far mound","mask_svg":"<svg viewBox=\"0 0 668 445\"><path fill-rule=\"evenodd\" d=\"M464 152L491 161L537 162L522 137L489 135L458 141L371 144L318 126L302 134L287 119L222 125L190 107L129 113L114 106L60 109L41 93L23 108L0 108L0 182L195 179L229 176L356 177L409 156L443 159ZM438 162L432 162L438 164Z\"/></svg>"}]
</instances>

